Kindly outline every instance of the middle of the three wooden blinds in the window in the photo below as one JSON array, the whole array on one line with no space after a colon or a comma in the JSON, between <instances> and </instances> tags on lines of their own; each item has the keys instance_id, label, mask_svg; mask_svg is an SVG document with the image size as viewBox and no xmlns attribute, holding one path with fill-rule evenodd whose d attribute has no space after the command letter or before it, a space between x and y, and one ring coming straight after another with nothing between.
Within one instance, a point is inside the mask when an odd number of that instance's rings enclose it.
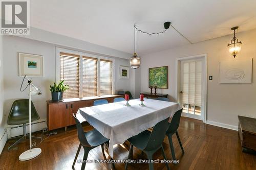
<instances>
[{"instance_id":1,"label":"middle of the three wooden blinds in the window","mask_svg":"<svg viewBox=\"0 0 256 170\"><path fill-rule=\"evenodd\" d=\"M82 94L83 97L98 95L98 59L82 58Z\"/></svg>"}]
</instances>

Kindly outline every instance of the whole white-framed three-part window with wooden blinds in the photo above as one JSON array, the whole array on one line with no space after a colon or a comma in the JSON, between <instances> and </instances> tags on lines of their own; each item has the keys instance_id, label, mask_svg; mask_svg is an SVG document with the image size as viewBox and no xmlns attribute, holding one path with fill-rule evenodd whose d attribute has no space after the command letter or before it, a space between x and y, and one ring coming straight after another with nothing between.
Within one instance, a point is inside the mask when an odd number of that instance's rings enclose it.
<instances>
[{"instance_id":1,"label":"whole white-framed three-part window with wooden blinds","mask_svg":"<svg viewBox=\"0 0 256 170\"><path fill-rule=\"evenodd\" d=\"M64 99L113 94L114 60L59 49L56 48L56 80L65 80L70 86Z\"/></svg>"}]
</instances>

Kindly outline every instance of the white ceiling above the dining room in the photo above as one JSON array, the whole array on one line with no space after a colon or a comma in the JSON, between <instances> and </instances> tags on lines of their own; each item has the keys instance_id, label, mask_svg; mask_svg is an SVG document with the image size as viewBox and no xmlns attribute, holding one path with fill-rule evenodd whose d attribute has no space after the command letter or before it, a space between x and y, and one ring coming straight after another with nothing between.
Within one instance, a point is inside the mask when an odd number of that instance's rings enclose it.
<instances>
[{"instance_id":1,"label":"white ceiling above the dining room","mask_svg":"<svg viewBox=\"0 0 256 170\"><path fill-rule=\"evenodd\" d=\"M255 0L33 0L31 26L94 44L133 53L134 23L147 32L163 31L171 21L196 43L256 28ZM231 39L232 36L230 36ZM228 42L227 42L228 43ZM145 55L189 44L173 28L164 34L136 32L136 52Z\"/></svg>"}]
</instances>

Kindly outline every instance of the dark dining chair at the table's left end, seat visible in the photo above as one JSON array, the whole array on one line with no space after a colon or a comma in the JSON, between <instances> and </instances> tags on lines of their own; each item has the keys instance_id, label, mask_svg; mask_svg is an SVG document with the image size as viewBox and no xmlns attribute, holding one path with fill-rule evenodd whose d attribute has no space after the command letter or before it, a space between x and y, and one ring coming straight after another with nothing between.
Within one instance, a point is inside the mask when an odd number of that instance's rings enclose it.
<instances>
[{"instance_id":1,"label":"dark dining chair at the table's left end, seat visible","mask_svg":"<svg viewBox=\"0 0 256 170\"><path fill-rule=\"evenodd\" d=\"M76 156L75 156L72 168L74 169L76 159L79 155L80 149L81 149L81 147L83 147L84 154L83 154L83 161L82 161L81 169L84 169L86 167L86 162L84 162L84 161L87 160L89 152L92 149L98 147L99 145L101 145L102 154L103 154L104 158L106 158L105 153L104 153L104 144L109 143L110 139L105 138L96 129L91 130L89 132L83 132L82 125L79 122L79 120L76 118L74 113L73 113L73 117L74 117L75 122L76 122L77 135L78 135L78 139L80 141L80 144L79 144L78 150L76 152ZM114 163L112 163L112 165L113 165L113 168L115 168Z\"/></svg>"}]
</instances>

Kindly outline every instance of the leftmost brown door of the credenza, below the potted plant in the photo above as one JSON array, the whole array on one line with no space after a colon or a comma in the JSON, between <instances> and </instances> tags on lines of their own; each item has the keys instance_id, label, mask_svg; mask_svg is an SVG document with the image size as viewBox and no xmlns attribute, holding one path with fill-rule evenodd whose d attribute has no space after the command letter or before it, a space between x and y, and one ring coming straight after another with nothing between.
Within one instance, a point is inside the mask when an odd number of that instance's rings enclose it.
<instances>
[{"instance_id":1,"label":"leftmost brown door of the credenza, below the potted plant","mask_svg":"<svg viewBox=\"0 0 256 170\"><path fill-rule=\"evenodd\" d=\"M49 130L67 127L69 124L69 104L55 103L48 105Z\"/></svg>"}]
</instances>

